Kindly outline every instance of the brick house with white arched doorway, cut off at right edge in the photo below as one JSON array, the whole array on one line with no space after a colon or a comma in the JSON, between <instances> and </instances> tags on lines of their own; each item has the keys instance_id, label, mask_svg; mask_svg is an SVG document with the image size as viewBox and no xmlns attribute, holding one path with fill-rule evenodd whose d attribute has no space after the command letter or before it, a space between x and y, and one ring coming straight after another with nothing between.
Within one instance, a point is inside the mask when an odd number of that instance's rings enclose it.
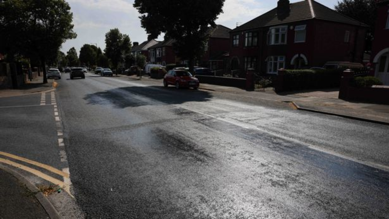
<instances>
[{"instance_id":1,"label":"brick house with white arched doorway, cut off at right edge","mask_svg":"<svg viewBox=\"0 0 389 219\"><path fill-rule=\"evenodd\" d=\"M372 74L389 85L389 0L379 0L371 53Z\"/></svg>"}]
</instances>

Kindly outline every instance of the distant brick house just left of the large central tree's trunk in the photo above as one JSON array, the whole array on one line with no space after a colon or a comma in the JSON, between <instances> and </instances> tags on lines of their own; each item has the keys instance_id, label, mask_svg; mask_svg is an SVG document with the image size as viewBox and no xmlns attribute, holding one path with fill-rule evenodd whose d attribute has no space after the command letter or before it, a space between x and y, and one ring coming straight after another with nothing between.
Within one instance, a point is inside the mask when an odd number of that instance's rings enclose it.
<instances>
[{"instance_id":1,"label":"distant brick house just left of the large central tree's trunk","mask_svg":"<svg viewBox=\"0 0 389 219\"><path fill-rule=\"evenodd\" d=\"M167 65L167 64L176 64L179 62L179 58L176 56L173 43L175 40L169 39L149 48L149 64L159 64L159 65Z\"/></svg>"}]
</instances>

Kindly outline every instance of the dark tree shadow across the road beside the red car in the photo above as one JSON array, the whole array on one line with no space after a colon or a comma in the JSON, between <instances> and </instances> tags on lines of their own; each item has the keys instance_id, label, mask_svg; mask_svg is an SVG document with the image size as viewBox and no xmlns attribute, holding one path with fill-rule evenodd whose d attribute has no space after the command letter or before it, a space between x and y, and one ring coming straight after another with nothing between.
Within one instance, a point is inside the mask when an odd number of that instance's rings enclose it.
<instances>
[{"instance_id":1,"label":"dark tree shadow across the road beside the red car","mask_svg":"<svg viewBox=\"0 0 389 219\"><path fill-rule=\"evenodd\" d=\"M85 95L88 104L107 105L117 108L162 104L182 104L184 102L203 102L212 98L210 92L194 89L175 89L174 87L121 87Z\"/></svg>"}]
</instances>

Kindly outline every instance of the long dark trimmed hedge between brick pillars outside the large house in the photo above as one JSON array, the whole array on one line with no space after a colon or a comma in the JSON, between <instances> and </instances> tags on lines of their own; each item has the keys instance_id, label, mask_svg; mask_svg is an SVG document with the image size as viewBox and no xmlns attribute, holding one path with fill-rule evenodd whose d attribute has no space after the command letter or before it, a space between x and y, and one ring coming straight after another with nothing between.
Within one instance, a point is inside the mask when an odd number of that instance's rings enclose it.
<instances>
[{"instance_id":1,"label":"long dark trimmed hedge between brick pillars outside the large house","mask_svg":"<svg viewBox=\"0 0 389 219\"><path fill-rule=\"evenodd\" d=\"M339 87L342 69L286 70L283 90Z\"/></svg>"}]
</instances>

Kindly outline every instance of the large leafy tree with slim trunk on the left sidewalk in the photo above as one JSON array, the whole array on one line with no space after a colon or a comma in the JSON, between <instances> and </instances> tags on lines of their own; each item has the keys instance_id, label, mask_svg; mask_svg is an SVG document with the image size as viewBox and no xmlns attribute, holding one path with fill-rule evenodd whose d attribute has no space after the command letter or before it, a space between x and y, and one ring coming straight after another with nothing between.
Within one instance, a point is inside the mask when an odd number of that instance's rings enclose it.
<instances>
[{"instance_id":1,"label":"large leafy tree with slim trunk on the left sidewalk","mask_svg":"<svg viewBox=\"0 0 389 219\"><path fill-rule=\"evenodd\" d=\"M64 0L6 0L1 1L0 14L1 35L4 31L8 44L2 49L12 56L38 56L47 83L46 60L54 60L63 42L77 36L69 4Z\"/></svg>"}]
</instances>

